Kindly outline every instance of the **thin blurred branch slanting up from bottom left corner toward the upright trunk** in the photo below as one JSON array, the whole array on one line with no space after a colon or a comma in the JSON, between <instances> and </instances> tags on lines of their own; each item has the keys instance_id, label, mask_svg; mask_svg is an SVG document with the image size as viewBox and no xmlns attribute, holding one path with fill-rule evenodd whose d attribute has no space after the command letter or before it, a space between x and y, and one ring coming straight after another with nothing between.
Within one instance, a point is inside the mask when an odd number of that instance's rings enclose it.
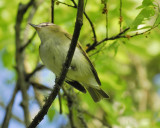
<instances>
[{"instance_id":1,"label":"thin blurred branch slanting up from bottom left corner toward the upright trunk","mask_svg":"<svg viewBox=\"0 0 160 128\"><path fill-rule=\"evenodd\" d=\"M10 121L10 118L12 115L12 107L13 107L13 103L14 103L17 92L18 92L18 85L16 85L14 92L13 92L13 95L12 95L12 98L11 98L9 104L7 105L6 114L5 114L5 117L3 120L2 128L8 128L9 121Z\"/></svg>"}]
</instances>

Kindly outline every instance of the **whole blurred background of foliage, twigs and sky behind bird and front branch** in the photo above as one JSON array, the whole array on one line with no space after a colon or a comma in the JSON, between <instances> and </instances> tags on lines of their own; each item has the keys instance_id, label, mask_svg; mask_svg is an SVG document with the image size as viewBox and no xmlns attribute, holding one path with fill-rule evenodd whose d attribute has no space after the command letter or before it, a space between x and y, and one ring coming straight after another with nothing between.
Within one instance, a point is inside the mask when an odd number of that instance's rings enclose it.
<instances>
[{"instance_id":1,"label":"whole blurred background of foliage, twigs and sky behind bird and front branch","mask_svg":"<svg viewBox=\"0 0 160 128\"><path fill-rule=\"evenodd\" d=\"M4 126L4 117L12 113L6 126L10 128L27 126L27 118L31 120L37 114L55 79L42 66L40 40L28 25L51 21L51 1L31 1L0 2L0 124ZM21 14L26 5L24 16L17 19L18 10ZM88 54L110 99L94 103L88 94L65 84L60 91L61 100L56 98L38 127L159 128L159 6L158 0L85 1L85 12L94 25L96 38L84 15L79 41L87 50L94 42L106 38ZM74 1L55 1L54 10L55 24L72 34L77 12ZM23 54L20 62L16 60L17 48ZM19 85L20 80L24 86Z\"/></svg>"}]
</instances>

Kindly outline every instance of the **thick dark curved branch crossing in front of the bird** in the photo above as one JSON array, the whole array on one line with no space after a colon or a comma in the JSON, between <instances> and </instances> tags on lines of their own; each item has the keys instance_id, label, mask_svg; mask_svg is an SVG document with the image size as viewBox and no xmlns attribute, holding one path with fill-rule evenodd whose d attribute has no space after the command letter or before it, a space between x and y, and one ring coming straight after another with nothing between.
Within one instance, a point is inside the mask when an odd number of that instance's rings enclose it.
<instances>
[{"instance_id":1,"label":"thick dark curved branch crossing in front of the bird","mask_svg":"<svg viewBox=\"0 0 160 128\"><path fill-rule=\"evenodd\" d=\"M75 29L74 29L74 33L73 33L73 38L71 40L71 45L64 63L64 66L62 68L62 72L60 75L60 78L57 80L53 91L51 92L51 94L49 95L48 99L46 100L44 106L42 107L42 109L38 112L38 114L35 116L35 118L33 119L33 121L31 122L31 124L29 125L28 128L35 128L43 119L43 117L47 114L47 111L49 109L49 107L51 106L52 102L54 101L54 99L56 98L68 71L68 68L71 64L72 61L72 57L74 54L74 51L76 49L76 45L77 45L77 41L78 41L78 37L80 34L80 30L83 24L83 6L84 6L84 1L83 0L79 0L79 4L78 4L78 11L77 11L77 18L76 18L76 23L75 23Z\"/></svg>"}]
</instances>

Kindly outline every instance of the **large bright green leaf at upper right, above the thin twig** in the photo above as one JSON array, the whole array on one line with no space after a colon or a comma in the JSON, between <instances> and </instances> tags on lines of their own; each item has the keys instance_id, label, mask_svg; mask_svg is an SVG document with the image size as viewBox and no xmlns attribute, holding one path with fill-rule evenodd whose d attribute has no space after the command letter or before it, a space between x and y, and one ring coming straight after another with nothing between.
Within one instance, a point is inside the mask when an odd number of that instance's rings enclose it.
<instances>
[{"instance_id":1,"label":"large bright green leaf at upper right, above the thin twig","mask_svg":"<svg viewBox=\"0 0 160 128\"><path fill-rule=\"evenodd\" d=\"M155 10L152 7L146 7L141 10L138 16L133 21L131 26L132 29L137 29L138 25L142 24L143 21L148 20L151 16L155 14Z\"/></svg>"}]
</instances>

